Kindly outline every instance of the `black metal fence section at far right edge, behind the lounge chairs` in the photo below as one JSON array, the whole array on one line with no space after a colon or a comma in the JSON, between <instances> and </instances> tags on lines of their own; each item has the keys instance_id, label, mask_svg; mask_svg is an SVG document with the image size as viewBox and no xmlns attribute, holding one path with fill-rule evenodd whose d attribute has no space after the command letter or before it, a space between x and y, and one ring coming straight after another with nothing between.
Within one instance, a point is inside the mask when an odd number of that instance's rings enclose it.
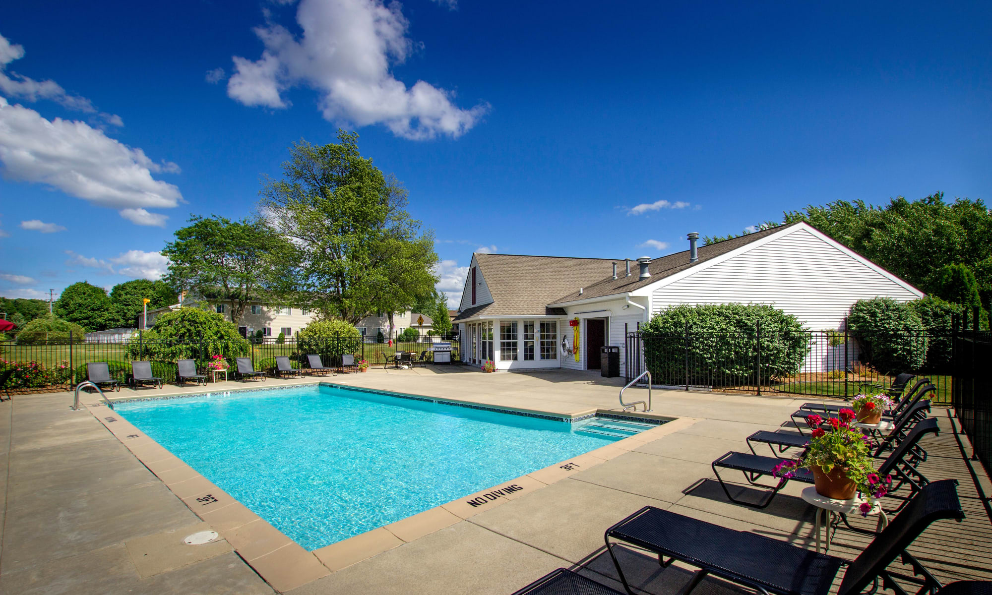
<instances>
[{"instance_id":1,"label":"black metal fence section at far right edge, behind the lounge chairs","mask_svg":"<svg viewBox=\"0 0 992 595\"><path fill-rule=\"evenodd\" d=\"M951 406L971 440L973 458L992 473L992 332L955 320Z\"/></svg>"}]
</instances>

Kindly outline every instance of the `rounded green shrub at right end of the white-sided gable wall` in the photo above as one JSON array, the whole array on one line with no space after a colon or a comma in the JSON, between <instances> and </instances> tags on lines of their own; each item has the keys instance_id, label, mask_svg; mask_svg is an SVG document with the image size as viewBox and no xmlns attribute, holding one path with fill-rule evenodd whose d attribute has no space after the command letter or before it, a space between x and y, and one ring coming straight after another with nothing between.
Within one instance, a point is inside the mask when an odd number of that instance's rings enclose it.
<instances>
[{"instance_id":1,"label":"rounded green shrub at right end of the white-sided gable wall","mask_svg":"<svg viewBox=\"0 0 992 595\"><path fill-rule=\"evenodd\" d=\"M909 304L892 297L859 299L847 317L861 361L883 374L916 372L927 362L927 335Z\"/></svg>"}]
</instances>

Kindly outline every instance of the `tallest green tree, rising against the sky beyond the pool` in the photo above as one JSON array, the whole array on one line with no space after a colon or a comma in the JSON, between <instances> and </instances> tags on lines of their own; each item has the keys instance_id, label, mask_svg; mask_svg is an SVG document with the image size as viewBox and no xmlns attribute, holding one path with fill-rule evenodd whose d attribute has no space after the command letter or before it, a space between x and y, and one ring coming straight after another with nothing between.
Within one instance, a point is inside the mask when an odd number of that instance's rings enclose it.
<instances>
[{"instance_id":1,"label":"tallest green tree, rising against the sky beyond the pool","mask_svg":"<svg viewBox=\"0 0 992 595\"><path fill-rule=\"evenodd\" d=\"M291 147L283 179L262 187L260 210L294 246L285 254L298 300L352 324L377 310L392 318L433 290L434 235L407 213L400 182L359 154L358 135L337 138Z\"/></svg>"}]
</instances>

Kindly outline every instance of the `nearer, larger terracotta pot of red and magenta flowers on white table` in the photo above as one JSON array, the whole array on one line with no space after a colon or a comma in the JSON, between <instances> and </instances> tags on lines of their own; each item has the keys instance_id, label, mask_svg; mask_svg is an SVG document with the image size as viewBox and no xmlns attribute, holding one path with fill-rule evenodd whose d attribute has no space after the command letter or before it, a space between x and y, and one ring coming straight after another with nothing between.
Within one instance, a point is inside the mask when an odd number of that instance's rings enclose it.
<instances>
[{"instance_id":1,"label":"nearer, larger terracotta pot of red and magenta flowers on white table","mask_svg":"<svg viewBox=\"0 0 992 595\"><path fill-rule=\"evenodd\" d=\"M820 496L851 500L861 492L865 498L861 514L867 516L875 501L888 493L892 478L881 477L872 467L871 438L850 426L854 412L842 409L838 416L825 421L821 416L808 416L812 433L806 452L777 465L775 476L790 478L796 469L809 469Z\"/></svg>"}]
</instances>

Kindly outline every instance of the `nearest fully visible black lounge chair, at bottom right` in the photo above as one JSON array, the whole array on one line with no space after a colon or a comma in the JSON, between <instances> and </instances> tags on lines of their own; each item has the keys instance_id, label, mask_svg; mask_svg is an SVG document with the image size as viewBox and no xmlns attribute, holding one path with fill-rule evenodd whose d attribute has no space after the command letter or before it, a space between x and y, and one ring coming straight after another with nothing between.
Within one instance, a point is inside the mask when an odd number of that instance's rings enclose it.
<instances>
[{"instance_id":1,"label":"nearest fully visible black lounge chair, at bottom right","mask_svg":"<svg viewBox=\"0 0 992 595\"><path fill-rule=\"evenodd\" d=\"M869 587L872 587L869 592L874 592L879 586L905 594L896 584L896 578L919 585L919 593L927 593L938 589L940 583L907 548L933 522L964 519L956 486L957 480L945 479L921 490L850 562L651 506L609 528L603 538L620 582L630 595L634 592L613 551L619 541L657 553L663 568L674 560L699 568L682 587L680 595L688 595L707 574L755 589L761 595L826 595L844 565L847 568L837 595L858 595ZM912 576L889 570L897 558L911 566Z\"/></svg>"}]
</instances>

